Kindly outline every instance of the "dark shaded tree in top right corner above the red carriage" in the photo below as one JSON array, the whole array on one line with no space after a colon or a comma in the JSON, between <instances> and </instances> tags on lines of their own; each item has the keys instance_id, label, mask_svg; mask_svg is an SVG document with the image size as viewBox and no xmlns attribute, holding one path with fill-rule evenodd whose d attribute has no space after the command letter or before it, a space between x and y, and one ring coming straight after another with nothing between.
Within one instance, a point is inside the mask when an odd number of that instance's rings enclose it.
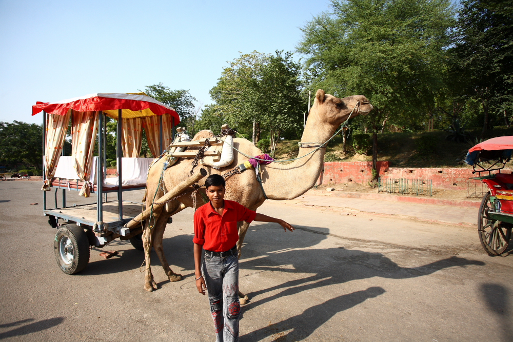
<instances>
[{"instance_id":1,"label":"dark shaded tree in top right corner above the red carriage","mask_svg":"<svg viewBox=\"0 0 513 342\"><path fill-rule=\"evenodd\" d=\"M484 113L482 134L490 126L490 111L513 109L513 1L463 0L458 13L454 47L466 94L479 100ZM506 120L507 123L507 120Z\"/></svg>"}]
</instances>

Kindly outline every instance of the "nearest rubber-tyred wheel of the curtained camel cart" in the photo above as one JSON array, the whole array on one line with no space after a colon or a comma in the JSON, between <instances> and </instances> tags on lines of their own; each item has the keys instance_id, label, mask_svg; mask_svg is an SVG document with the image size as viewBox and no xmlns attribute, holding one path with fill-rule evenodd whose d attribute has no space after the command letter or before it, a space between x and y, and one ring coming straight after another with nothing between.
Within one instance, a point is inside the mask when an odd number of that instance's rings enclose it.
<instances>
[{"instance_id":1,"label":"nearest rubber-tyred wheel of the curtained camel cart","mask_svg":"<svg viewBox=\"0 0 513 342\"><path fill-rule=\"evenodd\" d=\"M89 263L89 240L84 229L73 224L57 229L53 251L57 265L64 273L82 271Z\"/></svg>"}]
</instances>

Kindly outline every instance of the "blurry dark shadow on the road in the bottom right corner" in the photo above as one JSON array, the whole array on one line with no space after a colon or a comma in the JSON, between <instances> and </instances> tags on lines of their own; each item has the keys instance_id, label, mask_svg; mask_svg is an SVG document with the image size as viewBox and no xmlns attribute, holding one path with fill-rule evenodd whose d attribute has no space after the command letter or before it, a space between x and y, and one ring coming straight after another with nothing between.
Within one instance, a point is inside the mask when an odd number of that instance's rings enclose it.
<instances>
[{"instance_id":1,"label":"blurry dark shadow on the road in the bottom right corner","mask_svg":"<svg viewBox=\"0 0 513 342\"><path fill-rule=\"evenodd\" d=\"M481 284L480 290L487 309L497 316L501 327L502 340L504 342L513 341L508 289L499 284L486 283Z\"/></svg>"}]
</instances>

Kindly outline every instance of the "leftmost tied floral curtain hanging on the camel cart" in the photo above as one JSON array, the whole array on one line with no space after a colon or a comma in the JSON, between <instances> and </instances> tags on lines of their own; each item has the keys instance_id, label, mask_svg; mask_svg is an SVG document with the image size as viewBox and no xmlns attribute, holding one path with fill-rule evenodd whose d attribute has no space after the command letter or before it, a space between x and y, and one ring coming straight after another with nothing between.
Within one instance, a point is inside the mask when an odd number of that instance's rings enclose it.
<instances>
[{"instance_id":1,"label":"leftmost tied floral curtain hanging on the camel cart","mask_svg":"<svg viewBox=\"0 0 513 342\"><path fill-rule=\"evenodd\" d=\"M43 166L46 178L41 190L50 190L51 179L62 154L70 113L71 110L68 110L66 115L48 114L46 119L45 165Z\"/></svg>"}]
</instances>

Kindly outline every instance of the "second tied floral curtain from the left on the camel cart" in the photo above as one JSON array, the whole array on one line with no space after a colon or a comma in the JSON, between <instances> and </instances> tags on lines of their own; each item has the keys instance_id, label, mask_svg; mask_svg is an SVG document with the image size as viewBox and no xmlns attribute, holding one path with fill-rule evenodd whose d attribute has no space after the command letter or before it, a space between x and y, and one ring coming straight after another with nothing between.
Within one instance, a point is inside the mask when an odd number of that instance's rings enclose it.
<instances>
[{"instance_id":1,"label":"second tied floral curtain from the left on the camel cart","mask_svg":"<svg viewBox=\"0 0 513 342\"><path fill-rule=\"evenodd\" d=\"M90 177L97 129L98 112L73 111L71 156L74 159L76 173L84 182L78 194L84 197L89 197L91 192Z\"/></svg>"}]
</instances>

